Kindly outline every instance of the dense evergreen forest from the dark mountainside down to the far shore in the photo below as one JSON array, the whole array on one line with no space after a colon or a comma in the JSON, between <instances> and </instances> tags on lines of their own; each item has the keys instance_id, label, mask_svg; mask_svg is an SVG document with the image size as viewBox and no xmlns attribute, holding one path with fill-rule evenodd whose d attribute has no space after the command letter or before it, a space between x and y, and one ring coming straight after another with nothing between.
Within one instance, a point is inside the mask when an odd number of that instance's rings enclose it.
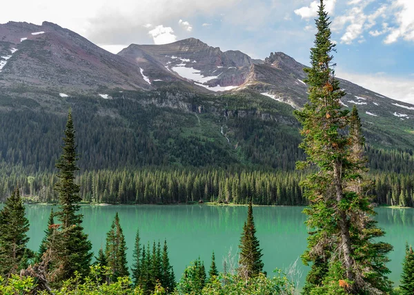
<instances>
[{"instance_id":1,"label":"dense evergreen forest from the dark mountainside down to the far shore","mask_svg":"<svg viewBox=\"0 0 414 295\"><path fill-rule=\"evenodd\" d=\"M253 94L212 98L213 106L226 103L221 113L219 105L199 109L195 96L187 98L188 112L160 107L168 92L159 95L161 102L146 105L141 100L149 94L128 95L68 98L54 105L57 112L24 104L2 112L0 125L7 128L0 128L0 201L16 185L27 201L57 201L55 161L66 120L61 112L72 105L77 179L85 202L246 203L253 198L262 205L307 204L299 187L304 172L295 172L295 162L304 159L299 126L288 105L272 110L277 102L255 100ZM242 109L251 115L235 116ZM257 119L265 111L279 121ZM373 130L365 131L369 139ZM412 206L413 150L369 141L365 150L375 202Z\"/></svg>"}]
</instances>

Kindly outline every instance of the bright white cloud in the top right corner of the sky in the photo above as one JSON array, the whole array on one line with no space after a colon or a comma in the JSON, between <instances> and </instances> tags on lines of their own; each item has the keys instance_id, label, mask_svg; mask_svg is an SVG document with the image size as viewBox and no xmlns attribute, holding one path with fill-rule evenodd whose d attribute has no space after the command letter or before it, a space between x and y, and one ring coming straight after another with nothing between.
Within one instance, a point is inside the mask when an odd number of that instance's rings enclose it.
<instances>
[{"instance_id":1,"label":"bright white cloud in the top right corner of the sky","mask_svg":"<svg viewBox=\"0 0 414 295\"><path fill-rule=\"evenodd\" d=\"M395 0L392 6L395 9L397 26L390 29L390 33L384 43L391 44L403 38L406 41L414 41L414 1Z\"/></svg>"}]
</instances>

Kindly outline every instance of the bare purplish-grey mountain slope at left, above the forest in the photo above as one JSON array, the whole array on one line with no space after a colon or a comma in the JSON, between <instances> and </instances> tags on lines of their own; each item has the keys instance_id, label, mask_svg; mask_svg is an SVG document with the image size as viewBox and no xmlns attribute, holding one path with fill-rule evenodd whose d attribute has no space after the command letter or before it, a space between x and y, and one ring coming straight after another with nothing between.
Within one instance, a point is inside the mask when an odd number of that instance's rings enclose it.
<instances>
[{"instance_id":1,"label":"bare purplish-grey mountain slope at left, above the forest","mask_svg":"<svg viewBox=\"0 0 414 295\"><path fill-rule=\"evenodd\" d=\"M1 86L23 84L68 92L151 89L135 65L53 23L6 23L0 25L0 39L6 62Z\"/></svg>"}]
</instances>

